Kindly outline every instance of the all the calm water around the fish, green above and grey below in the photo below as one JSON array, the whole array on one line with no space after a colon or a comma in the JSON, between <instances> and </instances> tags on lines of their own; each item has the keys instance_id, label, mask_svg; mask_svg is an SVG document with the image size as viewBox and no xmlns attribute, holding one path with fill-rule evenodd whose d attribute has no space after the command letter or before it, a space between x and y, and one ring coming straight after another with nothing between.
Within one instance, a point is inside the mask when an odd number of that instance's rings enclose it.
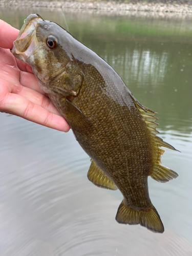
<instances>
[{"instance_id":1,"label":"all the calm water around the fish, green above and grey below","mask_svg":"<svg viewBox=\"0 0 192 256\"><path fill-rule=\"evenodd\" d=\"M192 254L191 17L60 9L0 9L16 28L36 12L93 49L134 96L158 112L166 150L162 163L179 177L149 178L165 232L115 221L122 195L87 179L89 157L72 132L0 115L0 255L124 256ZM66 21L66 22L65 22Z\"/></svg>"}]
</instances>

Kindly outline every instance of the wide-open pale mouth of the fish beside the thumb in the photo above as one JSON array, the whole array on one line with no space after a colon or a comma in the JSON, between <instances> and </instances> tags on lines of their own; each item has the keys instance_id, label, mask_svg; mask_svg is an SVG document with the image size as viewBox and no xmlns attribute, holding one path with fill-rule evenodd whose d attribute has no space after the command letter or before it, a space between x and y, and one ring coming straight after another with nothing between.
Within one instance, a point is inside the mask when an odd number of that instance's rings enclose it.
<instances>
[{"instance_id":1,"label":"wide-open pale mouth of the fish beside the thumb","mask_svg":"<svg viewBox=\"0 0 192 256\"><path fill-rule=\"evenodd\" d=\"M30 14L20 29L16 40L13 42L11 52L20 60L27 63L28 57L34 51L34 34L36 33L36 25L39 20L43 20L38 14Z\"/></svg>"}]
</instances>

